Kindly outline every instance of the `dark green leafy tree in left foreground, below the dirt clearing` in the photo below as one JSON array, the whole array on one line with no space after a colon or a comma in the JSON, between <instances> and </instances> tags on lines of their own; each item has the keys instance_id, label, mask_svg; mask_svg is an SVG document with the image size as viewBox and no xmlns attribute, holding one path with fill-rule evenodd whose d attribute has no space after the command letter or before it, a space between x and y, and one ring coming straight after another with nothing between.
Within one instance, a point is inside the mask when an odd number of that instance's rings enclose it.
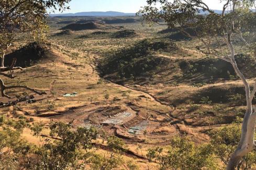
<instances>
[{"instance_id":1,"label":"dark green leafy tree in left foreground, below the dirt clearing","mask_svg":"<svg viewBox=\"0 0 256 170\"><path fill-rule=\"evenodd\" d=\"M36 155L39 161L36 169L66 169L81 167L83 157L93 148L92 140L96 140L98 132L95 128L79 127L74 130L72 122L50 124L50 136L53 139L45 139L43 145L38 148Z\"/></svg>"}]
</instances>

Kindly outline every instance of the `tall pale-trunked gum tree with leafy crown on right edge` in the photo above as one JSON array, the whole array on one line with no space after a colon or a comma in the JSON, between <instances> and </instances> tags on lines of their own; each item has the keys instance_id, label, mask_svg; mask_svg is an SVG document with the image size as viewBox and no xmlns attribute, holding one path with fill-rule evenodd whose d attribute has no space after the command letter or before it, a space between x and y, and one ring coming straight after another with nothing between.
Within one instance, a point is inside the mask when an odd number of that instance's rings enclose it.
<instances>
[{"instance_id":1,"label":"tall pale-trunked gum tree with leafy crown on right edge","mask_svg":"<svg viewBox=\"0 0 256 170\"><path fill-rule=\"evenodd\" d=\"M237 76L242 80L246 93L247 109L243 118L241 138L237 149L231 154L227 169L235 169L239 160L255 148L254 131L256 109L252 107L252 100L256 92L256 82L250 89L248 80L237 66L233 41L240 39L247 50L255 55L255 42L250 37L255 36L256 13L255 0L224 0L221 14L211 10L202 0L148 0L148 6L142 8L144 20L149 23L165 21L170 28L180 30L190 38L197 38L202 47L197 50L230 63ZM160 8L157 4L161 4ZM206 15L200 15L204 13ZM162 24L162 23L160 23Z\"/></svg>"}]
</instances>

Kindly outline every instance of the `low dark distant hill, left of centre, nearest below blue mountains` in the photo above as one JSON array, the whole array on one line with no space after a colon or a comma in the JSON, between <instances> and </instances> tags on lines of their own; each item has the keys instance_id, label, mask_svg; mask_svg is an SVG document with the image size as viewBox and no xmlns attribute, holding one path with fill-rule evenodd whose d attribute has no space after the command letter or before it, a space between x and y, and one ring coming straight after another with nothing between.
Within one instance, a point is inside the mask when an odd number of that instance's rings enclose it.
<instances>
[{"instance_id":1,"label":"low dark distant hill, left of centre, nearest below blue mountains","mask_svg":"<svg viewBox=\"0 0 256 170\"><path fill-rule=\"evenodd\" d=\"M105 25L104 23L87 22L87 23L72 23L68 26L61 28L61 30L66 30L66 29L70 29L72 31L80 31L80 30L118 29L118 28L115 26Z\"/></svg>"}]
</instances>

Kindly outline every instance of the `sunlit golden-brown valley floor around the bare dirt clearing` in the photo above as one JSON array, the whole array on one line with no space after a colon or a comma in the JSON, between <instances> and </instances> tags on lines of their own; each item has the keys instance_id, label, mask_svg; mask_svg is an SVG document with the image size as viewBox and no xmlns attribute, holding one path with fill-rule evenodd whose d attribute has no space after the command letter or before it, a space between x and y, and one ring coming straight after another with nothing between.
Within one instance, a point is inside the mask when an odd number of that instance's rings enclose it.
<instances>
[{"instance_id":1,"label":"sunlit golden-brown valley floor around the bare dirt clearing","mask_svg":"<svg viewBox=\"0 0 256 170\"><path fill-rule=\"evenodd\" d=\"M23 71L15 72L18 78L4 79L6 85L18 82L46 91L47 94L35 95L36 102L32 104L20 102L17 106L2 107L0 113L8 117L20 115L32 117L35 122L43 122L46 125L51 120L66 123L73 120L76 127L95 126L109 135L125 140L126 148L130 151L124 155L125 159L135 160L136 164L140 165L140 169L157 169L154 162L147 161L147 150L157 146L165 148L173 136L190 136L196 143L209 141L207 132L231 123L238 114L237 109L242 110L243 107L242 105L226 106L225 103L209 104L206 101L194 108L200 110L195 113L190 111L195 106L194 103L189 102L192 100L190 96L204 90L211 91L212 88L228 89L234 84L236 87L241 87L240 81L219 79L202 87L196 87L190 82L174 84L172 79L161 80L158 79L159 77L120 83L110 75L102 75L101 67L98 67L97 62L103 57L103 51L120 48L135 39L150 38L152 36L150 31L162 28L150 29L153 30L137 30L139 35L133 40L79 39L74 35L51 37L52 48L46 52L47 59ZM51 32L55 34L58 31ZM155 55L170 59L171 63L179 59L204 58L201 53L186 47L182 48L182 52L186 52L184 56L180 52L173 55L158 52ZM74 96L63 96L74 92ZM8 94L15 96L23 94L23 91L17 89L8 91ZM215 98L219 97L215 96ZM0 101L8 100L0 98ZM217 106L225 113L217 112L218 109L215 108ZM43 133L47 135L48 130L44 130ZM32 136L29 129L24 131L23 136L32 143L40 143ZM105 152L104 144L98 145L99 152ZM141 145L143 147L140 147Z\"/></svg>"}]
</instances>

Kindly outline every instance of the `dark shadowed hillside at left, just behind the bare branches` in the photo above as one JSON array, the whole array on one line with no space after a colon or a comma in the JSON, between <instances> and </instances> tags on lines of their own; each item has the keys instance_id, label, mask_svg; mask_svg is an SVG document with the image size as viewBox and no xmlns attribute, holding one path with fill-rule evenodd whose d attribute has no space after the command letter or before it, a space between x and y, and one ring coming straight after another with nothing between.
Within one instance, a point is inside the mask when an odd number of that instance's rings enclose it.
<instances>
[{"instance_id":1,"label":"dark shadowed hillside at left, just behind the bare branches","mask_svg":"<svg viewBox=\"0 0 256 170\"><path fill-rule=\"evenodd\" d=\"M5 56L5 66L12 64L13 58L17 58L16 66L29 67L35 62L47 58L45 55L49 51L48 44L29 43L19 50L9 53Z\"/></svg>"}]
</instances>

